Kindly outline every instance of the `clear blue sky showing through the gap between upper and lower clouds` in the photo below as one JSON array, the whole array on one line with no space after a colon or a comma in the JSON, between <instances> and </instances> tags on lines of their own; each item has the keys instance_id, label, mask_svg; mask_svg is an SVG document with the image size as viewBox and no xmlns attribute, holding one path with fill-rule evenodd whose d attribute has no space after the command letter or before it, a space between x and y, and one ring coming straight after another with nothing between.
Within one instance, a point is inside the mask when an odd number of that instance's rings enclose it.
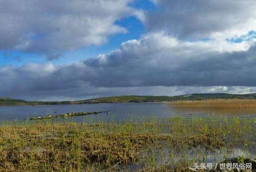
<instances>
[{"instance_id":1,"label":"clear blue sky showing through the gap between upper and lower clouds","mask_svg":"<svg viewBox=\"0 0 256 172\"><path fill-rule=\"evenodd\" d=\"M157 6L149 0L135 0L129 3L128 6L142 9L143 11L155 11L157 9ZM95 57L99 54L105 54L118 49L122 42L130 39L139 39L141 35L145 34L145 26L135 16L123 17L120 20L116 20L115 24L126 28L128 32L124 34L110 35L108 36L108 41L102 45L90 45L74 51L63 52L61 59L52 60L52 63L70 64L79 60ZM28 62L45 63L47 62L46 55L13 50L0 51L0 66L20 66Z\"/></svg>"}]
</instances>

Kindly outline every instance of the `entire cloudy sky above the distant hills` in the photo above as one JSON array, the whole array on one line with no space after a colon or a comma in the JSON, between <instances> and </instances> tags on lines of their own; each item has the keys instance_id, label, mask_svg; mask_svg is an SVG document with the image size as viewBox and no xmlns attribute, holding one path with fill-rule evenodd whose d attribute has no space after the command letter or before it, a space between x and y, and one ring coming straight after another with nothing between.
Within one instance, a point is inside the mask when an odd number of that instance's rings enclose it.
<instances>
[{"instance_id":1,"label":"entire cloudy sky above the distant hills","mask_svg":"<svg viewBox=\"0 0 256 172\"><path fill-rule=\"evenodd\" d=\"M255 0L0 0L0 97L256 93Z\"/></svg>"}]
</instances>

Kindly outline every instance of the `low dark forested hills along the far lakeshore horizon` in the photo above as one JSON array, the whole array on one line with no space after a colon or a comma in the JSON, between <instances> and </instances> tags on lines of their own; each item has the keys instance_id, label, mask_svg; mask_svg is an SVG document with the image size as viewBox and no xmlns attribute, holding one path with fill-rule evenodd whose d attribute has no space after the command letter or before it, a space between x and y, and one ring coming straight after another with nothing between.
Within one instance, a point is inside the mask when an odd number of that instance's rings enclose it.
<instances>
[{"instance_id":1,"label":"low dark forested hills along the far lakeshore horizon","mask_svg":"<svg viewBox=\"0 0 256 172\"><path fill-rule=\"evenodd\" d=\"M64 102L39 102L20 99L0 98L1 106L9 105L54 105L54 104L95 104L95 103L140 103L140 102L170 102L175 100L204 100L204 99L256 99L253 94L226 94L226 93L199 93L180 96L112 96L97 99L64 101Z\"/></svg>"}]
</instances>

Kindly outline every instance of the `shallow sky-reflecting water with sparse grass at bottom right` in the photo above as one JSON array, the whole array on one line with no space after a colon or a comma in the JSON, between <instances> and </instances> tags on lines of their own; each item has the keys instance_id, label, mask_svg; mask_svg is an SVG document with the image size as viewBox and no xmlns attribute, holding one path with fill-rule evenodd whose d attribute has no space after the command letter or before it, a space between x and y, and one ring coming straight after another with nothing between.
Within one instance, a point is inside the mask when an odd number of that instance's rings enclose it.
<instances>
[{"instance_id":1,"label":"shallow sky-reflecting water with sparse grass at bottom right","mask_svg":"<svg viewBox=\"0 0 256 172\"><path fill-rule=\"evenodd\" d=\"M182 162L188 164L193 163L211 163L213 166L224 161L227 158L238 158L244 156L245 158L256 158L256 149L253 147L243 149L241 146L233 149L215 149L209 151L204 147L193 147L191 149L177 151L168 146L155 146L146 149L140 155L141 160L137 164L129 164L126 166L119 166L123 171L137 171L143 169L145 166L162 166L166 165L172 169L180 165Z\"/></svg>"}]
</instances>

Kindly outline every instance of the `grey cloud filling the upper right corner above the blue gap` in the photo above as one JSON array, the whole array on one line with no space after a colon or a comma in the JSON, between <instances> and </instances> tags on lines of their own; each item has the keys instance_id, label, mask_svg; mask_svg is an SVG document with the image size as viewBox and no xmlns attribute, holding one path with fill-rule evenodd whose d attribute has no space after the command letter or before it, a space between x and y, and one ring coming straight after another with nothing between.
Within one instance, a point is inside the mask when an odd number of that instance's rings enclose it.
<instances>
[{"instance_id":1,"label":"grey cloud filling the upper right corner above the blue gap","mask_svg":"<svg viewBox=\"0 0 256 172\"><path fill-rule=\"evenodd\" d=\"M227 39L256 30L256 1L152 0L159 10L149 12L148 31L164 30L179 39Z\"/></svg>"}]
</instances>

